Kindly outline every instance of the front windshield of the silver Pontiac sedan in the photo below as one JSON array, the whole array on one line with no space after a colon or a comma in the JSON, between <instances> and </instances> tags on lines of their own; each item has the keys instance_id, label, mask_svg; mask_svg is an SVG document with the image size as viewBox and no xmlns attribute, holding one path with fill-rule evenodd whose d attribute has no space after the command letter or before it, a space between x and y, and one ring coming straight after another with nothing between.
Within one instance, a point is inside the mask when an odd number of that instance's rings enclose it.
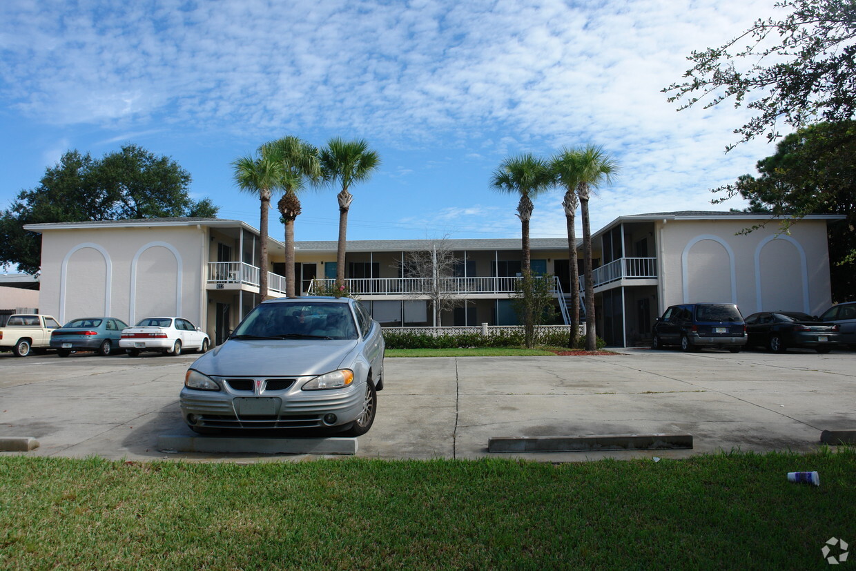
<instances>
[{"instance_id":1,"label":"front windshield of the silver Pontiac sedan","mask_svg":"<svg viewBox=\"0 0 856 571\"><path fill-rule=\"evenodd\" d=\"M233 337L356 339L348 304L263 303L238 325Z\"/></svg>"}]
</instances>

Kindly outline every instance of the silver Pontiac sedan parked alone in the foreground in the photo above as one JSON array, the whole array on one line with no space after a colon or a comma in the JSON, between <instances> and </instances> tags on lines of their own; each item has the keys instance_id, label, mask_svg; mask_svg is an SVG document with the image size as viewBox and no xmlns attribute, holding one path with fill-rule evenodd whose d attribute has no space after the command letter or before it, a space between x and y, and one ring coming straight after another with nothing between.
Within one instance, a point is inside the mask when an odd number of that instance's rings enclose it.
<instances>
[{"instance_id":1,"label":"silver Pontiac sedan parked alone in the foreground","mask_svg":"<svg viewBox=\"0 0 856 571\"><path fill-rule=\"evenodd\" d=\"M365 434L383 389L383 335L358 301L267 300L187 370L181 414L202 433L324 428Z\"/></svg>"}]
</instances>

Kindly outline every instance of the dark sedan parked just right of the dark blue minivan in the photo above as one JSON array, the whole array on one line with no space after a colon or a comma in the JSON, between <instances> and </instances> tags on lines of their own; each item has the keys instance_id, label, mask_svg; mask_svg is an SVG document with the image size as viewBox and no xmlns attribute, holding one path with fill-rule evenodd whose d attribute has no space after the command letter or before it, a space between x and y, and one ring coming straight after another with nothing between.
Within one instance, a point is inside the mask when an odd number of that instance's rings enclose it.
<instances>
[{"instance_id":1,"label":"dark sedan parked just right of the dark blue minivan","mask_svg":"<svg viewBox=\"0 0 856 571\"><path fill-rule=\"evenodd\" d=\"M841 341L837 324L826 324L800 312L760 312L746 318L750 347L766 347L784 353L789 347L811 348L829 353Z\"/></svg>"}]
</instances>

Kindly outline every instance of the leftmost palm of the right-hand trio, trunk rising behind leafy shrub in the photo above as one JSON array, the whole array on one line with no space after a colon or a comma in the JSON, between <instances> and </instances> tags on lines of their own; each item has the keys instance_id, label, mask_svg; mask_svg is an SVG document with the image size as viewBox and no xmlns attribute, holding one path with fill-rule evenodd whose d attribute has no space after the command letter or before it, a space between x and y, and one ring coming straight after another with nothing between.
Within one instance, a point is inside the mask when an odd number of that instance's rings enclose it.
<instances>
[{"instance_id":1,"label":"leftmost palm of the right-hand trio, trunk rising behind leafy shrub","mask_svg":"<svg viewBox=\"0 0 856 571\"><path fill-rule=\"evenodd\" d=\"M532 199L553 184L550 165L532 153L506 158L490 178L490 187L500 193L520 194L517 217L520 218L520 238L523 246L523 275L531 267L529 221L532 219Z\"/></svg>"}]
</instances>

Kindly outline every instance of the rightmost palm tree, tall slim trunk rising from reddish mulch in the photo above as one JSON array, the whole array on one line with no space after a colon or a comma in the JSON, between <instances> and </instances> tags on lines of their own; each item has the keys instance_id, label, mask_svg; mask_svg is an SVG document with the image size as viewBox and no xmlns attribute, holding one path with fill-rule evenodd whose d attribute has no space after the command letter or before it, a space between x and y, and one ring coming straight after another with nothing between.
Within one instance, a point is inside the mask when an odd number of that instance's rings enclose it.
<instances>
[{"instance_id":1,"label":"rightmost palm tree, tall slim trunk rising from reddish mulch","mask_svg":"<svg viewBox=\"0 0 856 571\"><path fill-rule=\"evenodd\" d=\"M577 196L580 197L580 217L583 223L583 273L586 277L586 350L597 348L594 330L594 283L591 279L591 225L588 201L593 189L612 182L618 163L603 151L603 147L587 145L573 152L577 164Z\"/></svg>"}]
</instances>

